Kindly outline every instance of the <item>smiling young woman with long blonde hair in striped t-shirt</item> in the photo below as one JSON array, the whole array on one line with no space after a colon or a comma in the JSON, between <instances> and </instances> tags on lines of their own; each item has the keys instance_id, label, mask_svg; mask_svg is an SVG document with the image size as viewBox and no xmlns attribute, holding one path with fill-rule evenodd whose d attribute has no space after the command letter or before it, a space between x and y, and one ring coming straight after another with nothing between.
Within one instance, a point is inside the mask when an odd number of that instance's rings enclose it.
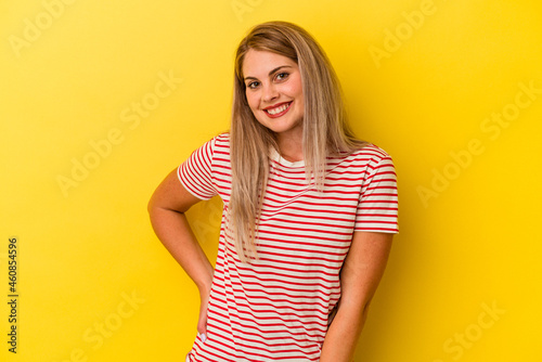
<instances>
[{"instance_id":1,"label":"smiling young woman with long blonde hair in striped t-shirt","mask_svg":"<svg viewBox=\"0 0 542 362\"><path fill-rule=\"evenodd\" d=\"M153 194L153 228L199 289L186 361L351 361L397 225L391 158L347 126L322 49L285 22L235 59L230 132ZM223 201L214 269L184 212Z\"/></svg>"}]
</instances>

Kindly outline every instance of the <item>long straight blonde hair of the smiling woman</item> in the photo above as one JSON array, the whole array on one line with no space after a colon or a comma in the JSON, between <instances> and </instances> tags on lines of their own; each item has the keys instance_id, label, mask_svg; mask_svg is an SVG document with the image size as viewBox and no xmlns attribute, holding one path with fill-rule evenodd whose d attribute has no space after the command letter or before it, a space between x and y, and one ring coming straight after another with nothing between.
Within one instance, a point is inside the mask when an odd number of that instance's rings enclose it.
<instances>
[{"instance_id":1,"label":"long straight blonde hair of the smiling woman","mask_svg":"<svg viewBox=\"0 0 542 362\"><path fill-rule=\"evenodd\" d=\"M230 129L232 190L228 219L243 262L258 258L257 220L269 177L269 150L278 148L273 131L256 120L247 103L243 62L250 49L286 56L299 67L305 101L302 150L308 183L313 181L317 190L323 191L326 157L350 153L365 144L356 139L348 127L339 81L318 42L292 23L268 22L255 26L236 51Z\"/></svg>"}]
</instances>

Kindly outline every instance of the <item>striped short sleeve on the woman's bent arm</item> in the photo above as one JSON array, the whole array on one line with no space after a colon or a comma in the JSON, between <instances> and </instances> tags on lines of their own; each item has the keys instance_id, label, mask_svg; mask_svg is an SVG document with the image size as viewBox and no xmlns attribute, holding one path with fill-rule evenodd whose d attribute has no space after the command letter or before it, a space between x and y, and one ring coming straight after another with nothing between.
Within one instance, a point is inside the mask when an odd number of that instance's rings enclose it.
<instances>
[{"instance_id":1,"label":"striped short sleeve on the woman's bent arm","mask_svg":"<svg viewBox=\"0 0 542 362\"><path fill-rule=\"evenodd\" d=\"M182 185L201 199L209 199L217 194L212 182L215 142L216 138L194 151L177 170Z\"/></svg>"}]
</instances>

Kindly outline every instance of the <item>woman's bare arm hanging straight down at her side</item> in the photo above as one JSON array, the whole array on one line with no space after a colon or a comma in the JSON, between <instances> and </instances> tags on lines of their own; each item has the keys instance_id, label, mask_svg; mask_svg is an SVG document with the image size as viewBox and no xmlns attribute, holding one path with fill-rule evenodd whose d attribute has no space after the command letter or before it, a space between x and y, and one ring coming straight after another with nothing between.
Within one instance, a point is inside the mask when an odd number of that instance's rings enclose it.
<instances>
[{"instance_id":1,"label":"woman's bare arm hanging straight down at her side","mask_svg":"<svg viewBox=\"0 0 542 362\"><path fill-rule=\"evenodd\" d=\"M354 232L340 271L341 296L320 362L352 361L369 305L386 268L393 234Z\"/></svg>"}]
</instances>

